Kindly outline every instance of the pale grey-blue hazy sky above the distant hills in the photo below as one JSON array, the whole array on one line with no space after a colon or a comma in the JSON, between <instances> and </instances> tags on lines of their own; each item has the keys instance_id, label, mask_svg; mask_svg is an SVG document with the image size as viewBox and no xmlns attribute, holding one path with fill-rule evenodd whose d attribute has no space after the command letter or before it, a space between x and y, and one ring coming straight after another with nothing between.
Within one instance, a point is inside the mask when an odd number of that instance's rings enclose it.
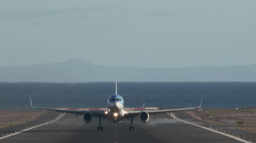
<instances>
[{"instance_id":1,"label":"pale grey-blue hazy sky above the distant hills","mask_svg":"<svg viewBox=\"0 0 256 143\"><path fill-rule=\"evenodd\" d=\"M1 0L0 67L256 64L256 0Z\"/></svg>"}]
</instances>

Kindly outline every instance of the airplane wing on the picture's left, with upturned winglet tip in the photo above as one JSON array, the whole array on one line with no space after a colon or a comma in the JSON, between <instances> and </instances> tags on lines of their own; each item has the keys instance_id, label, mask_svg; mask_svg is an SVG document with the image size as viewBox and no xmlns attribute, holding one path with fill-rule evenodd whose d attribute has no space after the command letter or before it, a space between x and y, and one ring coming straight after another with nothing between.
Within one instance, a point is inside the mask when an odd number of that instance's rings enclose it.
<instances>
[{"instance_id":1,"label":"airplane wing on the picture's left, with upturned winglet tip","mask_svg":"<svg viewBox=\"0 0 256 143\"><path fill-rule=\"evenodd\" d=\"M49 110L49 111L62 112L62 114L63 114L63 113L71 113L71 114L76 114L76 116L77 116L77 115L83 115L83 114L86 113L86 112L90 112L90 113L92 113L92 116L93 116L93 117L108 118L108 116L105 114L105 111L85 111L85 110L76 111L76 110L64 110L64 109L54 109L54 108L35 107L35 106L32 105L31 98L30 98L30 103L31 103L31 106L32 106L33 108L36 108L36 109L42 109L42 110Z\"/></svg>"}]
</instances>

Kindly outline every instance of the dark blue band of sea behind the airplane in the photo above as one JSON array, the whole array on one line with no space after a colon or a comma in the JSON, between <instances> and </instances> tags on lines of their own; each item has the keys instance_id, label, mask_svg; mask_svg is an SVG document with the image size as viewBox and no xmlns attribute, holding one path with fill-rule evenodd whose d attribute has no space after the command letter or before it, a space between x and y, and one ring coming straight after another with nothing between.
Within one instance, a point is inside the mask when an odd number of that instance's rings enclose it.
<instances>
[{"instance_id":1,"label":"dark blue band of sea behind the airplane","mask_svg":"<svg viewBox=\"0 0 256 143\"><path fill-rule=\"evenodd\" d=\"M256 82L118 82L125 107L241 108L256 106ZM0 110L106 107L115 82L0 83Z\"/></svg>"}]
</instances>

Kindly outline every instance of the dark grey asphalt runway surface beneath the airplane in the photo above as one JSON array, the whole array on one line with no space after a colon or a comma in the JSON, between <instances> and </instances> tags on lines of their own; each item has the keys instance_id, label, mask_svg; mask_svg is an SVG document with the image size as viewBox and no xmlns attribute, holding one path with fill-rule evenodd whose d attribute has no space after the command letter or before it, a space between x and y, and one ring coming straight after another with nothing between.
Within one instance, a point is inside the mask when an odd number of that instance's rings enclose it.
<instances>
[{"instance_id":1,"label":"dark grey asphalt runway surface beneath the airplane","mask_svg":"<svg viewBox=\"0 0 256 143\"><path fill-rule=\"evenodd\" d=\"M52 118L58 115L60 113L48 114ZM196 121L182 111L177 111L175 115L181 119ZM103 131L97 130L99 119L96 117L87 124L83 122L81 115L64 113L61 116L63 117L54 123L0 139L0 143L241 143L222 134L177 121L166 113L150 115L147 123L141 123L138 117L134 118L135 130L129 130L130 121L127 119L117 125L105 119L102 121ZM201 124L211 126L203 122ZM0 132L6 134L13 130L6 128ZM252 139L254 141L256 139Z\"/></svg>"}]
</instances>

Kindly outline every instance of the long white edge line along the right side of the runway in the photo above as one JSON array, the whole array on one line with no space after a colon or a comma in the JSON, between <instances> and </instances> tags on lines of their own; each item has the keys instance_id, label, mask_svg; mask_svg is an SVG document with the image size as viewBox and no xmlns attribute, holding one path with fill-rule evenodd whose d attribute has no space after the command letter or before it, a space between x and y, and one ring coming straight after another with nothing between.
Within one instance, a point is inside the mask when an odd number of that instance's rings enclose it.
<instances>
[{"instance_id":1,"label":"long white edge line along the right side of the runway","mask_svg":"<svg viewBox=\"0 0 256 143\"><path fill-rule=\"evenodd\" d=\"M243 143L251 143L251 142L249 142L249 141L245 141L245 140L243 140L243 139L240 139L240 138L238 138L238 137L234 137L234 136L229 135L229 134L225 134L225 133L223 133L223 132L218 132L218 131L216 131L216 130L209 129L209 128L206 128L206 127L203 127L203 126L199 126L199 125L197 125L197 124L189 123L189 122L187 122L187 121L184 121L184 120L182 120L182 119L177 118L177 117L176 117L175 115L173 115L172 113L169 114L169 115L171 115L171 117L173 117L173 119L176 119L176 120L178 120L178 121L182 121L183 123L191 124L191 125L198 126L198 127L200 127L200 128L203 128L203 129L206 129L206 130L209 130L209 131L212 131L212 132L216 132L216 133L218 133L218 134L222 134L222 135L227 136L227 137L230 137L230 138L232 138L232 139L236 139L236 140L241 141L241 142L243 142Z\"/></svg>"}]
</instances>

